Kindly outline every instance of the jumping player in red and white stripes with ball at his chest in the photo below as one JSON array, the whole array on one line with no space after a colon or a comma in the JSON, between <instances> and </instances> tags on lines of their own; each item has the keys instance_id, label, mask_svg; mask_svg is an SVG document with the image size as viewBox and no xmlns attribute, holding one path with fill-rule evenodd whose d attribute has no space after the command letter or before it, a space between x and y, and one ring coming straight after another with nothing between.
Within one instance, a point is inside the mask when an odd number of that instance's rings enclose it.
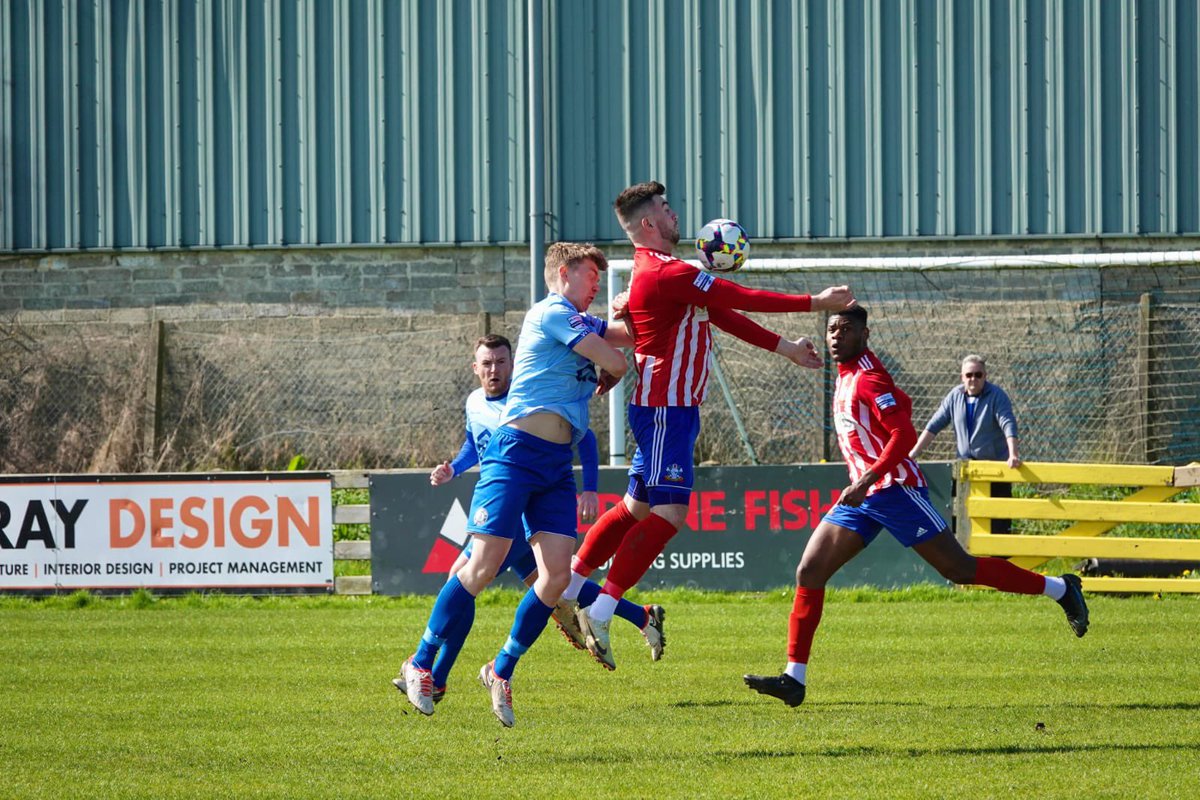
<instances>
[{"instance_id":1,"label":"jumping player in red and white stripes with ball at his chest","mask_svg":"<svg viewBox=\"0 0 1200 800\"><path fill-rule=\"evenodd\" d=\"M799 366L818 367L821 359L811 342L788 341L736 309L839 311L854 305L848 287L832 287L816 296L748 289L674 258L671 251L679 243L679 218L665 193L658 181L637 184L614 204L636 247L624 318L634 336L637 368L629 405L637 452L624 503L605 512L588 531L563 594L565 600L575 599L584 578L612 558L600 596L576 614L588 649L610 669L616 662L608 621L617 601L641 581L688 516L700 404L713 357L710 326Z\"/></svg>"}]
</instances>

